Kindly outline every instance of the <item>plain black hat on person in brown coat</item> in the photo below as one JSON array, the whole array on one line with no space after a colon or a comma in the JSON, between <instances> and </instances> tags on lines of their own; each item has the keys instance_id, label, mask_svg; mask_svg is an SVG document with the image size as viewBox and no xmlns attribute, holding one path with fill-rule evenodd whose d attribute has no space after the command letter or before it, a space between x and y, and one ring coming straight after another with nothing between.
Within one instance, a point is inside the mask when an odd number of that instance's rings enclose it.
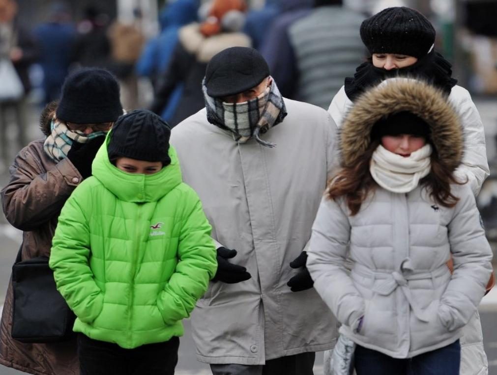
<instances>
[{"instance_id":1,"label":"plain black hat on person in brown coat","mask_svg":"<svg viewBox=\"0 0 497 375\"><path fill-rule=\"evenodd\" d=\"M67 76L56 111L59 120L75 124L111 123L122 114L119 84L110 72L83 68Z\"/></svg>"}]
</instances>

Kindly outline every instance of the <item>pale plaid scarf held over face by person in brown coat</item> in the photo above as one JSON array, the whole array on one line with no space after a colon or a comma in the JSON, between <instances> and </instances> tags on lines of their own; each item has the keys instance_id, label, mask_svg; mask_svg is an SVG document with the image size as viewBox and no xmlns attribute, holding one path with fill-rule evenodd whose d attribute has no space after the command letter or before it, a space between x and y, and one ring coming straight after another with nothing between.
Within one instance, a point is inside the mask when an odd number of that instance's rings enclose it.
<instances>
[{"instance_id":1,"label":"pale plaid scarf held over face by person in brown coat","mask_svg":"<svg viewBox=\"0 0 497 375\"><path fill-rule=\"evenodd\" d=\"M67 157L67 153L71 149L73 142L86 143L91 139L106 133L105 131L95 131L86 135L83 131L70 130L64 122L55 118L50 124L50 129L52 132L47 139L45 139L43 149L56 163Z\"/></svg>"}]
</instances>

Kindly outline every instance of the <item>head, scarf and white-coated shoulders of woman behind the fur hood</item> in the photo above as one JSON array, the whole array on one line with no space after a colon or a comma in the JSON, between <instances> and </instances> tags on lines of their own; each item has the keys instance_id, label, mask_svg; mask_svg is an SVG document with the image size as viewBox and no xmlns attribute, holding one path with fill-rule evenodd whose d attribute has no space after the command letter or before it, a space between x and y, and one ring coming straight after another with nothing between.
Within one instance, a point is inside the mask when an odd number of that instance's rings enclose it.
<instances>
[{"instance_id":1,"label":"head, scarf and white-coated shoulders of woman behind the fur hood","mask_svg":"<svg viewBox=\"0 0 497 375\"><path fill-rule=\"evenodd\" d=\"M445 93L461 117L465 152L456 174L467 177L478 194L490 174L483 124L469 92L452 77L452 65L434 50L431 23L414 9L392 7L364 20L360 34L371 58L356 68L353 77L345 78L333 98L328 112L336 125L341 126L345 113L363 92L386 78L409 76L427 81Z\"/></svg>"}]
</instances>

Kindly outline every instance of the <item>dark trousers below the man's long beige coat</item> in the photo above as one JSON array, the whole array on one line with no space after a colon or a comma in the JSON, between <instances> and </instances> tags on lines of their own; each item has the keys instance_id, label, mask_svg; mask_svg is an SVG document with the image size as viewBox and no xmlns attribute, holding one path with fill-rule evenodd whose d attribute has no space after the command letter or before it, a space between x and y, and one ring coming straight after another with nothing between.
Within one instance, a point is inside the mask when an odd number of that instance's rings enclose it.
<instances>
[{"instance_id":1,"label":"dark trousers below the man's long beige coat","mask_svg":"<svg viewBox=\"0 0 497 375\"><path fill-rule=\"evenodd\" d=\"M314 375L316 353L302 353L266 361L265 365L211 365L213 375Z\"/></svg>"}]
</instances>

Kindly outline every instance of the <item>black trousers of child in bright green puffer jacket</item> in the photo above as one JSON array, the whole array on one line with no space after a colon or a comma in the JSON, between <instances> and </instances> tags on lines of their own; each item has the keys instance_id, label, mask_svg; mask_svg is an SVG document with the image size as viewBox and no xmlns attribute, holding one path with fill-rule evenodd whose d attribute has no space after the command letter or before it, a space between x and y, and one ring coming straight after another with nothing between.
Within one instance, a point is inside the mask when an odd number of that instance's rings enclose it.
<instances>
[{"instance_id":1,"label":"black trousers of child in bright green puffer jacket","mask_svg":"<svg viewBox=\"0 0 497 375\"><path fill-rule=\"evenodd\" d=\"M123 349L110 342L78 334L81 375L173 375L178 362L179 338Z\"/></svg>"}]
</instances>

